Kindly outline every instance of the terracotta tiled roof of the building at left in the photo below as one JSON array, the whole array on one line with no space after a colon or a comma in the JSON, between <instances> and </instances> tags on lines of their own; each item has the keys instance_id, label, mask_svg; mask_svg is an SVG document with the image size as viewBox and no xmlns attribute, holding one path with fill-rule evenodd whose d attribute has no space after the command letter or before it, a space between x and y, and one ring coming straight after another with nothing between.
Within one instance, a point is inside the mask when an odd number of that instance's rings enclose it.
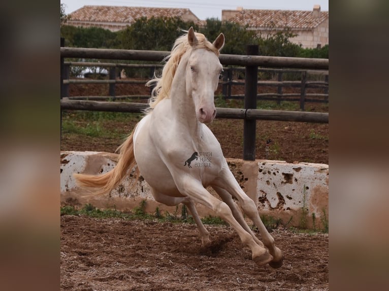
<instances>
[{"instance_id":1,"label":"terracotta tiled roof of the building at left","mask_svg":"<svg viewBox=\"0 0 389 291\"><path fill-rule=\"evenodd\" d=\"M126 6L83 6L70 14L72 21L125 22L132 23L141 17L181 17L191 14L186 8L152 8Z\"/></svg>"}]
</instances>

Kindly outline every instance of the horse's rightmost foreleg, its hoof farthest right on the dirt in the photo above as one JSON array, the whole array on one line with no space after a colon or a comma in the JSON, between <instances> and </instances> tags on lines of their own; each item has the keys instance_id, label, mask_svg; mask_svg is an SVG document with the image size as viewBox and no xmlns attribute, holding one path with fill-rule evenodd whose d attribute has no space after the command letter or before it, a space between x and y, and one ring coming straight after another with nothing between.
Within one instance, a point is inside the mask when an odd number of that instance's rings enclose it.
<instances>
[{"instance_id":1,"label":"horse's rightmost foreleg, its hoof farthest right on the dirt","mask_svg":"<svg viewBox=\"0 0 389 291\"><path fill-rule=\"evenodd\" d=\"M262 222L255 202L250 197L248 197L246 193L243 192L233 173L230 170L223 171L217 180L217 184L218 187L225 189L227 192L231 193L231 195L238 199L243 211L260 231L263 243L269 249L270 254L274 258L272 262L269 263L269 265L273 268L281 267L284 258L282 251L276 247L274 238L269 234L264 223Z\"/></svg>"}]
</instances>

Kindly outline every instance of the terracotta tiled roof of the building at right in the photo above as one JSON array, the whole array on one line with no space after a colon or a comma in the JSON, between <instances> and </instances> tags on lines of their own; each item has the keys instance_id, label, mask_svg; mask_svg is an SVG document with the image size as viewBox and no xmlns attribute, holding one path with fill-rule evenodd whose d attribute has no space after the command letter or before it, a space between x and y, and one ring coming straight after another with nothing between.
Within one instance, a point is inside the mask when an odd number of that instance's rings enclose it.
<instances>
[{"instance_id":1,"label":"terracotta tiled roof of the building at right","mask_svg":"<svg viewBox=\"0 0 389 291\"><path fill-rule=\"evenodd\" d=\"M319 17L314 17L312 11L243 9L228 21L249 27L284 28L287 26L308 29L316 27L328 17L328 11L321 11Z\"/></svg>"}]
</instances>

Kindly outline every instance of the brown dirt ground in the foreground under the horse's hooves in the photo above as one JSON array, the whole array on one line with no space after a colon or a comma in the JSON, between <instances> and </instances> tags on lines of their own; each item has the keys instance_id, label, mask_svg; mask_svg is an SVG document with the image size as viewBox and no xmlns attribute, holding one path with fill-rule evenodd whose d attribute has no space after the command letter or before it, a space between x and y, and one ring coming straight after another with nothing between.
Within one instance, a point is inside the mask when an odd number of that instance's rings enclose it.
<instances>
[{"instance_id":1,"label":"brown dirt ground in the foreground under the horse's hooves","mask_svg":"<svg viewBox=\"0 0 389 291\"><path fill-rule=\"evenodd\" d=\"M61 216L60 289L328 290L328 234L271 235L284 252L279 269L258 267L230 227ZM259 235L258 235L259 237Z\"/></svg>"}]
</instances>

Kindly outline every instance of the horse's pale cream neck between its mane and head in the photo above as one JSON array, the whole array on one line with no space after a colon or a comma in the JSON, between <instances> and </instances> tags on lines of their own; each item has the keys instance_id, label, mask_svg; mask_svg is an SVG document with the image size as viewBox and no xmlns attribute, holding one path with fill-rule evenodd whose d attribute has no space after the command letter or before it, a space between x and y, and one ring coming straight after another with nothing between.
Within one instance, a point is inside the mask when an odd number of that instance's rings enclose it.
<instances>
[{"instance_id":1,"label":"horse's pale cream neck between its mane and head","mask_svg":"<svg viewBox=\"0 0 389 291\"><path fill-rule=\"evenodd\" d=\"M178 64L170 91L172 114L175 120L188 127L189 131L198 131L199 121L196 118L195 103L186 94L186 65L189 55L183 55Z\"/></svg>"}]
</instances>

